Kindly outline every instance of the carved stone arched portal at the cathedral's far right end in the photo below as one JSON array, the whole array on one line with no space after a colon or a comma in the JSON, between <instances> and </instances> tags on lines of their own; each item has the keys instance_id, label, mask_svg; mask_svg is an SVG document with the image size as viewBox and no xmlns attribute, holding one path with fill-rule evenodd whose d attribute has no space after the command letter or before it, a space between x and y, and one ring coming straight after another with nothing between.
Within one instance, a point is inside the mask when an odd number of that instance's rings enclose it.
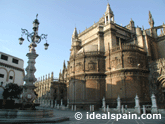
<instances>
[{"instance_id":1,"label":"carved stone arched portal at the cathedral's far right end","mask_svg":"<svg viewBox=\"0 0 165 124\"><path fill-rule=\"evenodd\" d=\"M165 108L165 59L152 61L149 66L150 92L156 95L159 108Z\"/></svg>"}]
</instances>

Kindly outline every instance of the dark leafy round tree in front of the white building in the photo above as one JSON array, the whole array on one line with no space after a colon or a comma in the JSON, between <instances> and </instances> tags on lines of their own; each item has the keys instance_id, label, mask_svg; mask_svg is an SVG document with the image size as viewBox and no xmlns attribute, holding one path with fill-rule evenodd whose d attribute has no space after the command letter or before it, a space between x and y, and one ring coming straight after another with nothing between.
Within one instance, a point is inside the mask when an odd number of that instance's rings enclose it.
<instances>
[{"instance_id":1,"label":"dark leafy round tree in front of the white building","mask_svg":"<svg viewBox=\"0 0 165 124\"><path fill-rule=\"evenodd\" d=\"M18 86L17 84L8 83L6 84L2 95L4 99L10 98L12 100L12 98L19 98L22 91L23 88Z\"/></svg>"}]
</instances>

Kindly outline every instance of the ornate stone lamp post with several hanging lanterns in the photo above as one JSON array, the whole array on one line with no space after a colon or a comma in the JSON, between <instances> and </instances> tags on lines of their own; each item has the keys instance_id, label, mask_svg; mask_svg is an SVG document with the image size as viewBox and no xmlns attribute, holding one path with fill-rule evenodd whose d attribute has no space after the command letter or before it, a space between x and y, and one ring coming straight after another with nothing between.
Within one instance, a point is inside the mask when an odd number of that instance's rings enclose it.
<instances>
[{"instance_id":1,"label":"ornate stone lamp post with several hanging lanterns","mask_svg":"<svg viewBox=\"0 0 165 124\"><path fill-rule=\"evenodd\" d=\"M28 30L21 29L22 35L21 35L21 38L19 38L20 45L22 45L24 41L24 38L22 38L24 34L27 35L27 40L30 42L29 53L26 54L29 61L28 61L28 66L26 67L27 74L24 77L24 81L26 83L23 86L23 94L22 94L23 106L25 106L26 104L34 105L33 101L36 98L34 94L34 89L36 87L34 86L33 83L37 80L34 76L34 73L36 71L34 64L35 64L35 59L38 56L38 54L36 54L35 47L37 47L37 44L39 44L42 39L45 39L45 40L47 39L46 34L41 34L41 36L38 35L39 21L37 17L38 17L38 14L36 15L36 19L33 21L33 32L29 33ZM47 43L47 40L44 46L45 46L45 50L47 50L49 46L49 44Z\"/></svg>"}]
</instances>

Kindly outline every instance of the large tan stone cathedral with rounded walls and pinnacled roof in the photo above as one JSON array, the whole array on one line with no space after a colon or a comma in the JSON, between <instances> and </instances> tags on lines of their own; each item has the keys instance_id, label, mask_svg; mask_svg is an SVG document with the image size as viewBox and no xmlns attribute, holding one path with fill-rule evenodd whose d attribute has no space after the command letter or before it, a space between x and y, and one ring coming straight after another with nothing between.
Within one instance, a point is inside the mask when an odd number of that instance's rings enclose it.
<instances>
[{"instance_id":1,"label":"large tan stone cathedral with rounded walls and pinnacled roof","mask_svg":"<svg viewBox=\"0 0 165 124\"><path fill-rule=\"evenodd\" d=\"M150 11L148 21L149 29L135 27L132 19L118 25L107 4L97 23L81 33L74 29L69 61L59 73L69 105L100 108L105 98L116 107L119 96L123 105L134 107L136 94L145 105L154 93L158 106L165 108L165 24L154 26Z\"/></svg>"}]
</instances>

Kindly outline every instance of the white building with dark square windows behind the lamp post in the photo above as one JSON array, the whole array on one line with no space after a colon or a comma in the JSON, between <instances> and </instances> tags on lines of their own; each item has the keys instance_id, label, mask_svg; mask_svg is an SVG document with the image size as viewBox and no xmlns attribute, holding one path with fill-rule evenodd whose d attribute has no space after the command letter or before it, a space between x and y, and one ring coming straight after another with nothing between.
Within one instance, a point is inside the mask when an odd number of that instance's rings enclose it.
<instances>
[{"instance_id":1,"label":"white building with dark square windows behind the lamp post","mask_svg":"<svg viewBox=\"0 0 165 124\"><path fill-rule=\"evenodd\" d=\"M7 83L23 85L24 61L20 58L0 52L0 99Z\"/></svg>"}]
</instances>

